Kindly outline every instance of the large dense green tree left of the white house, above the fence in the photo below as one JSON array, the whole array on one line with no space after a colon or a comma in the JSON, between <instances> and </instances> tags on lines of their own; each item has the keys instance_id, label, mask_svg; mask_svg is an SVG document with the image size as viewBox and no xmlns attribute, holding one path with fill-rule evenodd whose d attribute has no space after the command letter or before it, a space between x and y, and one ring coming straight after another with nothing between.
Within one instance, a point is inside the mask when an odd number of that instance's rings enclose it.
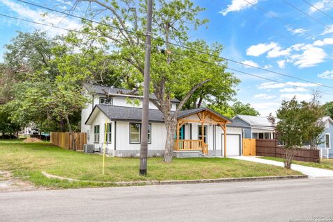
<instances>
[{"instance_id":1,"label":"large dense green tree left of the white house, above the fence","mask_svg":"<svg viewBox=\"0 0 333 222\"><path fill-rule=\"evenodd\" d=\"M105 49L76 40L73 33L50 38L35 31L18 33L6 46L0 95L11 121L34 122L40 130L80 130L87 102L83 83L114 83L119 74Z\"/></svg>"}]
</instances>

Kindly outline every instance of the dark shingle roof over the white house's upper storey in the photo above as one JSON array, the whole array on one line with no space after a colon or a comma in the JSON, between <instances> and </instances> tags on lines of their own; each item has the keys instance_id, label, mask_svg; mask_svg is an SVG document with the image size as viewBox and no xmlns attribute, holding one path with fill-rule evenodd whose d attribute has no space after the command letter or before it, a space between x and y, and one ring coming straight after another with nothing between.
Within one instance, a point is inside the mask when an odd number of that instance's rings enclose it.
<instances>
[{"instance_id":1,"label":"dark shingle roof over the white house's upper storey","mask_svg":"<svg viewBox=\"0 0 333 222\"><path fill-rule=\"evenodd\" d=\"M85 84L85 89L87 89L89 92L93 92L96 94L105 94L105 92L109 94L132 94L135 96L139 96L136 92L133 92L131 89L120 89L120 88L113 88L108 86L101 86L101 85L91 85L91 84ZM155 94L151 94L151 99L157 100ZM171 99L172 102L179 103L180 101L178 99Z\"/></svg>"}]
</instances>

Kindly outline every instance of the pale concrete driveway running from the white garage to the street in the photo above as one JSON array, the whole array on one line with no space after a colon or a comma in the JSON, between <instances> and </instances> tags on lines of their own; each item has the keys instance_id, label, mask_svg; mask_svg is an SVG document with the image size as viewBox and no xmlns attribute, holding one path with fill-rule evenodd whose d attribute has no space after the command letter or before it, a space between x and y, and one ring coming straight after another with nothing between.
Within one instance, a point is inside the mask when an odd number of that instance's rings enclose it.
<instances>
[{"instance_id":1,"label":"pale concrete driveway running from the white garage to the street","mask_svg":"<svg viewBox=\"0 0 333 222\"><path fill-rule=\"evenodd\" d=\"M261 158L257 158L254 156L234 156L234 157L228 157L232 159L237 160L246 160L250 162L259 162L261 164L271 164L279 167L284 167L283 162L278 162L274 160L265 160ZM311 178L320 178L320 177L333 177L333 171L330 171L328 169L319 169L315 167L305 167L298 164L291 164L291 169L294 171L299 171Z\"/></svg>"}]
</instances>

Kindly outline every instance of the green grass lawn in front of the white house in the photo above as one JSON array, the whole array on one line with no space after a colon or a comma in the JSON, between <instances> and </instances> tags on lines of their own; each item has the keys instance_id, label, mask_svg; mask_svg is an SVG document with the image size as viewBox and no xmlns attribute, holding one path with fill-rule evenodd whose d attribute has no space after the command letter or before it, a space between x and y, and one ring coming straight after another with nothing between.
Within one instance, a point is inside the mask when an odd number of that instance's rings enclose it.
<instances>
[{"instance_id":1,"label":"green grass lawn in front of the white house","mask_svg":"<svg viewBox=\"0 0 333 222\"><path fill-rule=\"evenodd\" d=\"M103 187L106 183L68 182L42 176L42 171L56 176L94 181L193 180L254 176L299 175L301 173L228 158L148 159L148 175L139 176L139 159L107 157L102 175L102 156L67 151L49 143L24 144L20 140L0 140L0 169L46 187Z\"/></svg>"}]
</instances>

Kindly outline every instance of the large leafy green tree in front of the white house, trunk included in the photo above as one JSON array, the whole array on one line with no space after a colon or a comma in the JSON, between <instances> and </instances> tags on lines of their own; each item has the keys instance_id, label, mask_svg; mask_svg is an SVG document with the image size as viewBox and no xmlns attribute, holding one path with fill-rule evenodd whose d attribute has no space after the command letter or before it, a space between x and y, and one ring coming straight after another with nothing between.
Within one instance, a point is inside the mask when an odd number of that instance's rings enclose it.
<instances>
[{"instance_id":1,"label":"large leafy green tree in front of the white house, trunk included","mask_svg":"<svg viewBox=\"0 0 333 222\"><path fill-rule=\"evenodd\" d=\"M127 77L131 84L127 87L141 90L144 74L146 1L76 1L77 5L79 3L84 5L87 2L89 3L88 9L91 9L89 16L98 16L102 24L85 22L83 31L90 36L92 41L102 38L112 45L110 52L114 55L114 61L118 62L117 66L130 70ZM162 112L167 128L165 162L172 160L178 113L185 107L185 103L191 99L191 96L194 96L193 101L211 99L209 94L212 94L216 100L230 99L234 94L232 88L239 83L239 80L232 74L225 72L225 62L221 58L215 57L221 53L220 44L210 46L202 40L189 40L189 28L198 28L207 23L207 19L198 17L198 13L203 10L203 8L194 6L194 3L189 0L155 1L151 92L155 93L157 97L157 101L152 102ZM170 42L178 42L215 56L182 49ZM203 63L200 60L209 63ZM127 83L123 83L126 86ZM205 89L205 84L211 84L214 88ZM217 89L217 87L222 89ZM201 92L198 91L200 89L202 89ZM180 103L176 112L171 112L171 99L175 97L180 100ZM189 104L194 103L193 101Z\"/></svg>"}]
</instances>

